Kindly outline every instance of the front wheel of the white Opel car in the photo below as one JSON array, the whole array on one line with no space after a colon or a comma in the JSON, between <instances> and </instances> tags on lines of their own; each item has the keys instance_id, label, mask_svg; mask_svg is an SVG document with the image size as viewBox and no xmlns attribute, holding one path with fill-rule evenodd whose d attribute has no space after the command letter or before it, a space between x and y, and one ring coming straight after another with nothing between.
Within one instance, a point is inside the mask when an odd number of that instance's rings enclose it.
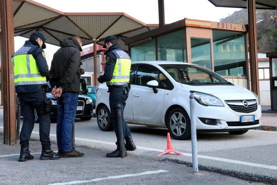
<instances>
[{"instance_id":1,"label":"front wheel of the white Opel car","mask_svg":"<svg viewBox=\"0 0 277 185\"><path fill-rule=\"evenodd\" d=\"M174 108L167 117L167 128L176 140L190 139L190 120L182 108Z\"/></svg>"}]
</instances>

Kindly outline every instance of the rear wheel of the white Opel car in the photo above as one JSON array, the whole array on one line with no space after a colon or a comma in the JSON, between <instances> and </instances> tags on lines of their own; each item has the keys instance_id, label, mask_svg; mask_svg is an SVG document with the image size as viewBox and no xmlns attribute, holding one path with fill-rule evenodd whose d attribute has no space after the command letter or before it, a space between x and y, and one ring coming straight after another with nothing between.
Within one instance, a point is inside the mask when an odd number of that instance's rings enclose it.
<instances>
[{"instance_id":1,"label":"rear wheel of the white Opel car","mask_svg":"<svg viewBox=\"0 0 277 185\"><path fill-rule=\"evenodd\" d=\"M107 106L101 105L97 111L97 124L101 131L112 131L111 113Z\"/></svg>"}]
</instances>

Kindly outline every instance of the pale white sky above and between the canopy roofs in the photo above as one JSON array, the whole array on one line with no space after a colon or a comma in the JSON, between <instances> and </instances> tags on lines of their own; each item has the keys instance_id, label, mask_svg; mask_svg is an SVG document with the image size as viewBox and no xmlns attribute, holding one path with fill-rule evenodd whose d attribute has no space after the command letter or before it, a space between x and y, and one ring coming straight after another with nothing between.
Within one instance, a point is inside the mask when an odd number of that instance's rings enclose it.
<instances>
[{"instance_id":1,"label":"pale white sky above and between the canopy roofs","mask_svg":"<svg viewBox=\"0 0 277 185\"><path fill-rule=\"evenodd\" d=\"M124 12L146 24L158 24L158 0L34 0L62 12ZM240 9L215 7L207 0L164 0L165 23L184 18L218 22ZM15 50L24 44L26 38L15 37ZM44 49L48 65L58 46L46 44ZM90 45L84 46L86 48Z\"/></svg>"}]
</instances>

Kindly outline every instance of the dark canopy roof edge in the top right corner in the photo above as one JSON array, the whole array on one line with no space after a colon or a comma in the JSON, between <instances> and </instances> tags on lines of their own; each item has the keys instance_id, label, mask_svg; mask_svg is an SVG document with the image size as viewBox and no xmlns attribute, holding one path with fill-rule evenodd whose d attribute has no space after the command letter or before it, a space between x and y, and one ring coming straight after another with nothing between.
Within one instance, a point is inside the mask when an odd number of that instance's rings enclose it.
<instances>
[{"instance_id":1,"label":"dark canopy roof edge in the top right corner","mask_svg":"<svg viewBox=\"0 0 277 185\"><path fill-rule=\"evenodd\" d=\"M247 8L246 0L209 0L216 7ZM277 9L276 0L256 0L256 9Z\"/></svg>"}]
</instances>

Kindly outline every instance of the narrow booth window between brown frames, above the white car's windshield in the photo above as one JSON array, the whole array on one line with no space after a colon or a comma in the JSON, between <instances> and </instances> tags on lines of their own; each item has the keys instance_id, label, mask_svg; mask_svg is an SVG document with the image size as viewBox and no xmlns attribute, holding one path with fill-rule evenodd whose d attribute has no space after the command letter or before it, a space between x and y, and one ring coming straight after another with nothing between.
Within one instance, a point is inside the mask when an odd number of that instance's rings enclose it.
<instances>
[{"instance_id":1,"label":"narrow booth window between brown frames, above the white car's windshield","mask_svg":"<svg viewBox=\"0 0 277 185\"><path fill-rule=\"evenodd\" d=\"M190 38L191 63L212 69L211 40L205 38Z\"/></svg>"}]
</instances>

